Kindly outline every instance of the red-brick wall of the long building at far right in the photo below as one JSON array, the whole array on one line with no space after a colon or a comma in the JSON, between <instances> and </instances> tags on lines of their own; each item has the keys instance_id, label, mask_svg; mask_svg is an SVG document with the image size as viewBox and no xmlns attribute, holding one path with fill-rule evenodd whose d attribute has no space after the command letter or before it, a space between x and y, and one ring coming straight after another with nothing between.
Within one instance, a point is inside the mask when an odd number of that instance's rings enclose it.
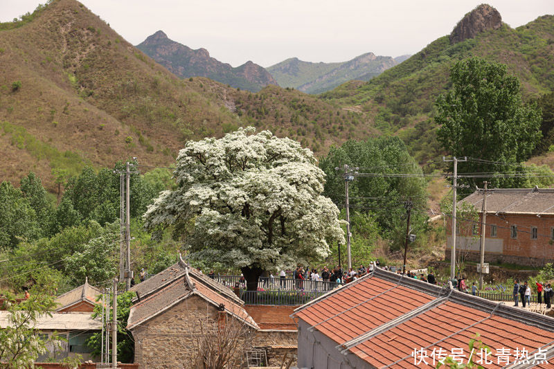
<instances>
[{"instance_id":1,"label":"red-brick wall of the long building at far right","mask_svg":"<svg viewBox=\"0 0 554 369\"><path fill-rule=\"evenodd\" d=\"M481 222L481 215L479 216ZM535 214L487 214L485 226L485 262L509 262L514 264L542 266L554 261L554 242L552 233L554 217ZM476 235L461 234L457 236L456 250L467 249L466 260L479 260L479 235L481 225L476 224L479 231ZM492 226L496 226L497 235L492 237ZM511 237L511 227L517 227L517 237ZM532 227L537 227L537 238L533 239ZM447 234L452 234L452 226L448 226ZM459 239L459 241L458 241ZM450 257L451 237L448 237L447 258ZM477 253L477 259L476 254Z\"/></svg>"}]
</instances>

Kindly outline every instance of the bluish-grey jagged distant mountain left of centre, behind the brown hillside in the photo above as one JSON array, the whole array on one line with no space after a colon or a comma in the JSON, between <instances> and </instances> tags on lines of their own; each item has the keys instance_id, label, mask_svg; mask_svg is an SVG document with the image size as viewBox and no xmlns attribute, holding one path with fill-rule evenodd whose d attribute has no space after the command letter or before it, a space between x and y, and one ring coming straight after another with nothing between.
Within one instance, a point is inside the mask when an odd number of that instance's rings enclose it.
<instances>
[{"instance_id":1,"label":"bluish-grey jagged distant mountain left of centre, behind the brown hillside","mask_svg":"<svg viewBox=\"0 0 554 369\"><path fill-rule=\"evenodd\" d=\"M159 30L136 46L180 78L207 77L231 87L258 92L276 80L262 66L246 62L233 68L210 56L205 48L193 50L172 41Z\"/></svg>"}]
</instances>

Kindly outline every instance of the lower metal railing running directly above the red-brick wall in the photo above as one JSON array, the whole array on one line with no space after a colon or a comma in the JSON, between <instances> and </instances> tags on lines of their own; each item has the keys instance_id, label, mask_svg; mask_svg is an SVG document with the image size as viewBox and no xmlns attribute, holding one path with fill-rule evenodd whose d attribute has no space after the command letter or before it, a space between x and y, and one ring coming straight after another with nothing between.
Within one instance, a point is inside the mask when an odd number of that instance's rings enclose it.
<instances>
[{"instance_id":1,"label":"lower metal railing running directly above the red-brick wall","mask_svg":"<svg viewBox=\"0 0 554 369\"><path fill-rule=\"evenodd\" d=\"M241 291L240 298L249 305L304 305L327 291Z\"/></svg>"}]
</instances>

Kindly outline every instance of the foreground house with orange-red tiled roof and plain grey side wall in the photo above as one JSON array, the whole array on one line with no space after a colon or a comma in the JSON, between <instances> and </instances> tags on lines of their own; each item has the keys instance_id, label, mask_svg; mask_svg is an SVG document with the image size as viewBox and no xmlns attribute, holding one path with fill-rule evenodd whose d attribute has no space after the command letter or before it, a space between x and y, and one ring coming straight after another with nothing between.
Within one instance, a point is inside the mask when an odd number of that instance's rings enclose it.
<instances>
[{"instance_id":1,"label":"foreground house with orange-red tiled roof and plain grey side wall","mask_svg":"<svg viewBox=\"0 0 554 369\"><path fill-rule=\"evenodd\" d=\"M485 368L554 368L554 318L379 268L293 317L298 368L435 368L470 355Z\"/></svg>"}]
</instances>

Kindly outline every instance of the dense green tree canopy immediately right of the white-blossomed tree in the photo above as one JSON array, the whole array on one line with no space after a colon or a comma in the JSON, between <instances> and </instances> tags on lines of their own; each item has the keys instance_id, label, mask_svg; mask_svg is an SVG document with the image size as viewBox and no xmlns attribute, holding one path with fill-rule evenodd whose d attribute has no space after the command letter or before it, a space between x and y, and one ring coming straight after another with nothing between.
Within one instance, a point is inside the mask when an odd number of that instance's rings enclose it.
<instances>
[{"instance_id":1,"label":"dense green tree canopy immediately right of the white-blossomed tree","mask_svg":"<svg viewBox=\"0 0 554 369\"><path fill-rule=\"evenodd\" d=\"M345 206L346 196L342 170L344 164L358 167L359 172L366 173L422 174L400 138L346 141L340 147L332 147L320 163L320 168L327 175L324 194L341 207ZM413 201L414 228L423 226L427 219L426 185L422 177L355 177L348 186L350 208L375 215L375 221L389 236L393 248L400 248L403 247L406 233L404 201Z\"/></svg>"}]
</instances>

